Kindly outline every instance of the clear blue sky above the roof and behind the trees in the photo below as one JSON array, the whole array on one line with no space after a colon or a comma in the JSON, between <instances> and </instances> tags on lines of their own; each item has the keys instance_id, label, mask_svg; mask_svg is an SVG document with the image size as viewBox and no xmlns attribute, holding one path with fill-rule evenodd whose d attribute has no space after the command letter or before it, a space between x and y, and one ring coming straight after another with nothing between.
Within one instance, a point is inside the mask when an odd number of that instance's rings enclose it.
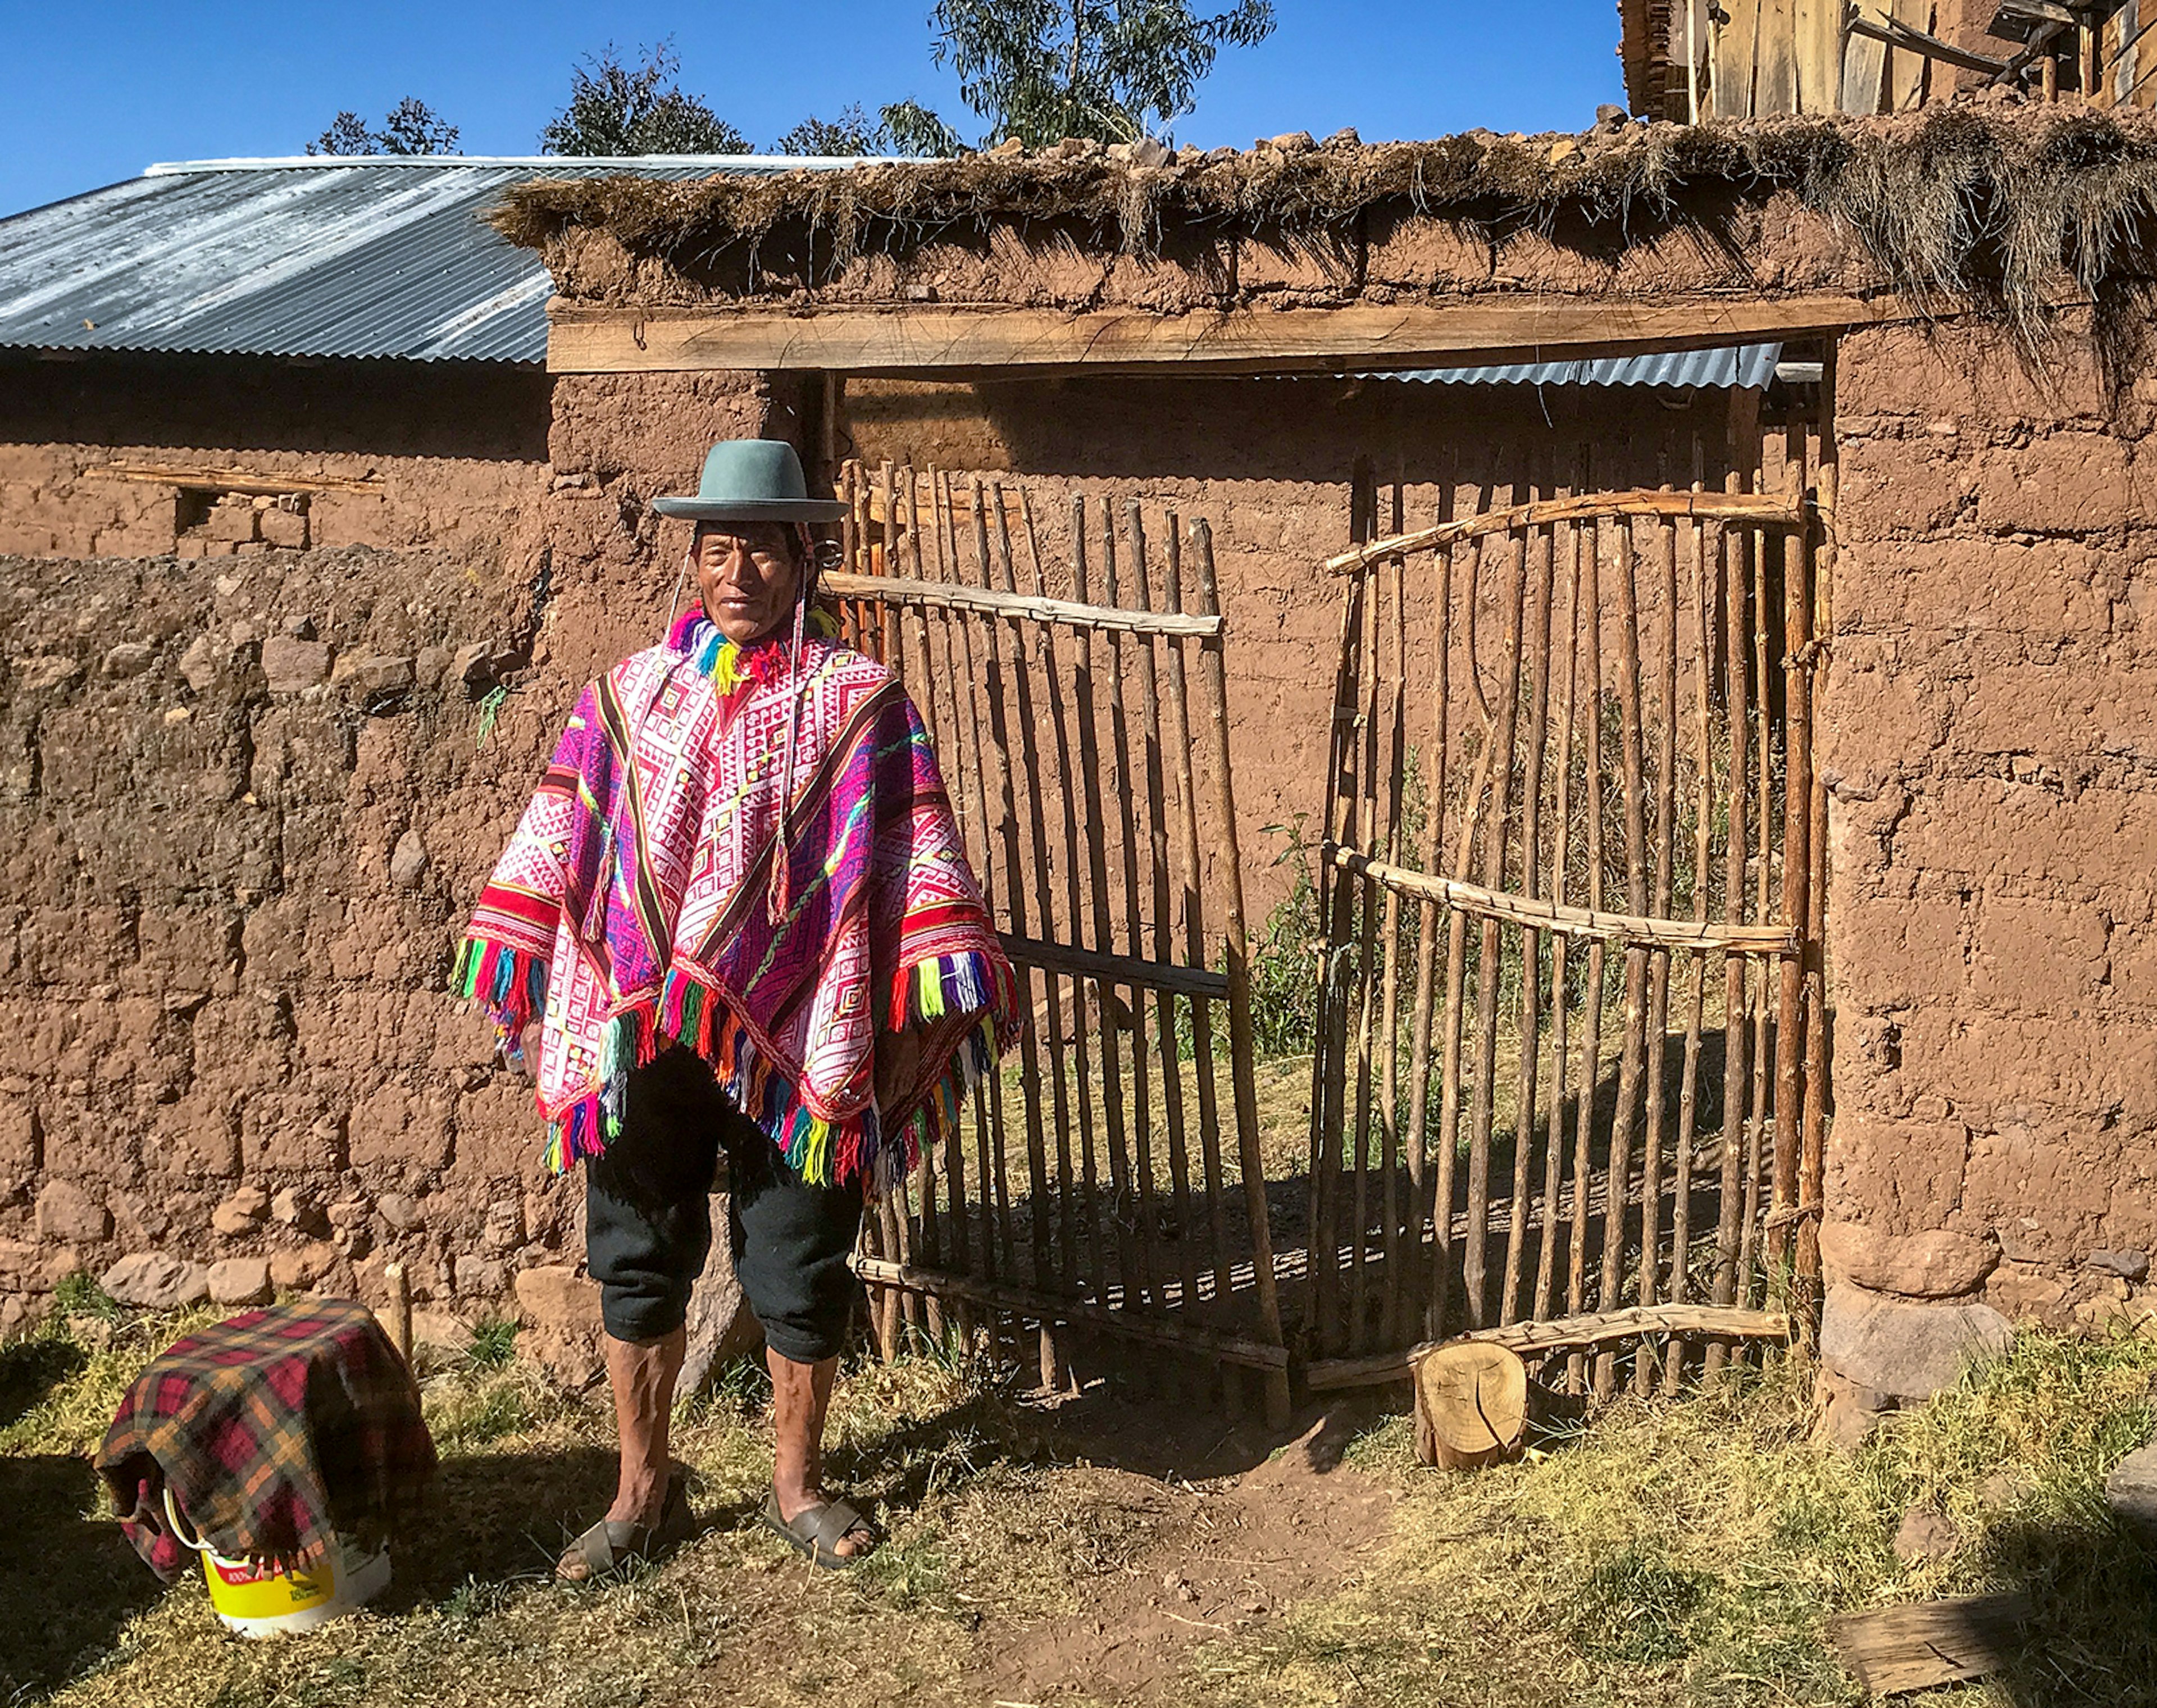
<instances>
[{"instance_id":1,"label":"clear blue sky above the roof and behind the trees","mask_svg":"<svg viewBox=\"0 0 2157 1708\"><path fill-rule=\"evenodd\" d=\"M1611 0L1275 0L1279 28L1227 50L1178 140L1355 125L1365 138L1583 129L1620 101ZM466 153L535 153L569 67L608 39L673 37L682 86L757 147L802 114L915 97L973 138L930 60L928 0L766 4L78 4L0 0L0 214L153 160L300 153L339 108L380 121L406 95L462 127Z\"/></svg>"}]
</instances>

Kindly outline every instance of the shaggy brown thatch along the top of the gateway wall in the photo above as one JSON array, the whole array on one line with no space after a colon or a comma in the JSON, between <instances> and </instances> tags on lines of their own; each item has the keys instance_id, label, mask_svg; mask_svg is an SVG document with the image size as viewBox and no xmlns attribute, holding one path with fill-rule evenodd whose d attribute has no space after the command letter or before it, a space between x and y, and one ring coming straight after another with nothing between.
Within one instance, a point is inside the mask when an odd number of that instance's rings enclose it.
<instances>
[{"instance_id":1,"label":"shaggy brown thatch along the top of the gateway wall","mask_svg":"<svg viewBox=\"0 0 2157 1708\"><path fill-rule=\"evenodd\" d=\"M1158 254L1171 233L1348 233L1396 209L1482 233L1588 226L1622 248L1728 203L1788 194L1853 231L1894 289L1978 311L2034 336L2073 285L2125 336L2157 214L2157 123L2060 106L1956 104L1907 119L1616 125L1581 138L1469 132L1437 142L1186 151L1130 166L1083 144L852 170L701 181L533 181L492 216L546 250L604 231L669 263L811 237L843 265L953 233L1081 231L1100 248ZM2116 354L2116 352L2114 352Z\"/></svg>"}]
</instances>

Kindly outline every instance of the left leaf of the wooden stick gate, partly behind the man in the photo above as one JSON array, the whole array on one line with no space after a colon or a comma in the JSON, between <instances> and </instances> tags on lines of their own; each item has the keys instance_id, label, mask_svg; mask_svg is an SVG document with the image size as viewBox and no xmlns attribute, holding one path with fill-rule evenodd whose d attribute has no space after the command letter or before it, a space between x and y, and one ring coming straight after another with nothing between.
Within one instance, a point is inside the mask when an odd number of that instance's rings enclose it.
<instances>
[{"instance_id":1,"label":"left leaf of the wooden stick gate, partly behind the man","mask_svg":"<svg viewBox=\"0 0 2157 1708\"><path fill-rule=\"evenodd\" d=\"M839 490L826 589L934 731L1029 1011L973 1156L865 1229L882 1346L1029 1322L1057 1385L1074 1339L1150 1341L1286 1417L1210 531L891 464Z\"/></svg>"}]
</instances>

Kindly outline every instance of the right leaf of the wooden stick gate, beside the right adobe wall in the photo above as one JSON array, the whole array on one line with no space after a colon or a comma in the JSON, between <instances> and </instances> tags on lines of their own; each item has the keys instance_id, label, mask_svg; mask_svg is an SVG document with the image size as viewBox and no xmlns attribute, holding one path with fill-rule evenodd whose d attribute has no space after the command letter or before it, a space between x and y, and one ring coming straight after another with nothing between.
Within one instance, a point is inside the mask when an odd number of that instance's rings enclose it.
<instances>
[{"instance_id":1,"label":"right leaf of the wooden stick gate, beside the right adobe wall","mask_svg":"<svg viewBox=\"0 0 2157 1708\"><path fill-rule=\"evenodd\" d=\"M1682 1331L1719 1361L1803 1316L1816 509L1788 474L1549 481L1324 565L1314 1387L1475 1333L1598 1391L1633 1344L1646 1391Z\"/></svg>"}]
</instances>

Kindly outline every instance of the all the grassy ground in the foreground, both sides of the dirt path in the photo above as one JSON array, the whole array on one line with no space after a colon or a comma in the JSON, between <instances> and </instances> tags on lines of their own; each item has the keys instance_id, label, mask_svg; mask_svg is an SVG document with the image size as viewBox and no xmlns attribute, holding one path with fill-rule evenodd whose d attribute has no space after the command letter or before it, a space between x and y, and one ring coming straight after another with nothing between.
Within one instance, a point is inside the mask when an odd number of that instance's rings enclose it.
<instances>
[{"instance_id":1,"label":"all the grassy ground in the foreground, both sides of the dirt path","mask_svg":"<svg viewBox=\"0 0 2157 1708\"><path fill-rule=\"evenodd\" d=\"M835 1471L876 1503L889 1544L854 1574L809 1572L751 1523L770 1391L744 1365L677 1413L675 1445L716 1529L647 1572L557 1592L546 1566L610 1482L604 1395L563 1400L516 1359L464 1361L425 1382L442 1486L393 1589L304 1643L244 1643L214 1624L198 1583L157 1592L108 1520L78 1516L93 1503L82 1456L127 1378L196 1320L78 1318L0 1352L13 1395L0 1479L41 1544L39 1564L0 1566L0 1699L977 1704L997 1656L1044 1622L1068 1630L1117 1585L1219 1546L1148 1494L1191 1486L1089 1464L1098 1441L1059 1438L979 1365L908 1359L848 1369L833 1415ZM1150 1695L1206 1708L1855 1704L1827 1617L2023 1589L2036 1641L2017 1671L1915 1702L2157 1699L2157 1566L2101 1499L2103 1473L2157 1430L2157 1339L2025 1331L2008 1359L1851 1458L1810 1445L1808 1389L1769 1372L1680 1402L1624 1400L1523 1464L1467 1477L1417 1466L1404 1417L1368 1417L1346 1466L1357 1490L1393 1492L1391 1516L1303 1600L1227 1635L1193 1628ZM1322 1479L1301 1494L1342 1497ZM1892 1535L1918 1503L1963 1542L1905 1568ZM1094 1676L1074 1654L1055 1702L1098 1699Z\"/></svg>"}]
</instances>

